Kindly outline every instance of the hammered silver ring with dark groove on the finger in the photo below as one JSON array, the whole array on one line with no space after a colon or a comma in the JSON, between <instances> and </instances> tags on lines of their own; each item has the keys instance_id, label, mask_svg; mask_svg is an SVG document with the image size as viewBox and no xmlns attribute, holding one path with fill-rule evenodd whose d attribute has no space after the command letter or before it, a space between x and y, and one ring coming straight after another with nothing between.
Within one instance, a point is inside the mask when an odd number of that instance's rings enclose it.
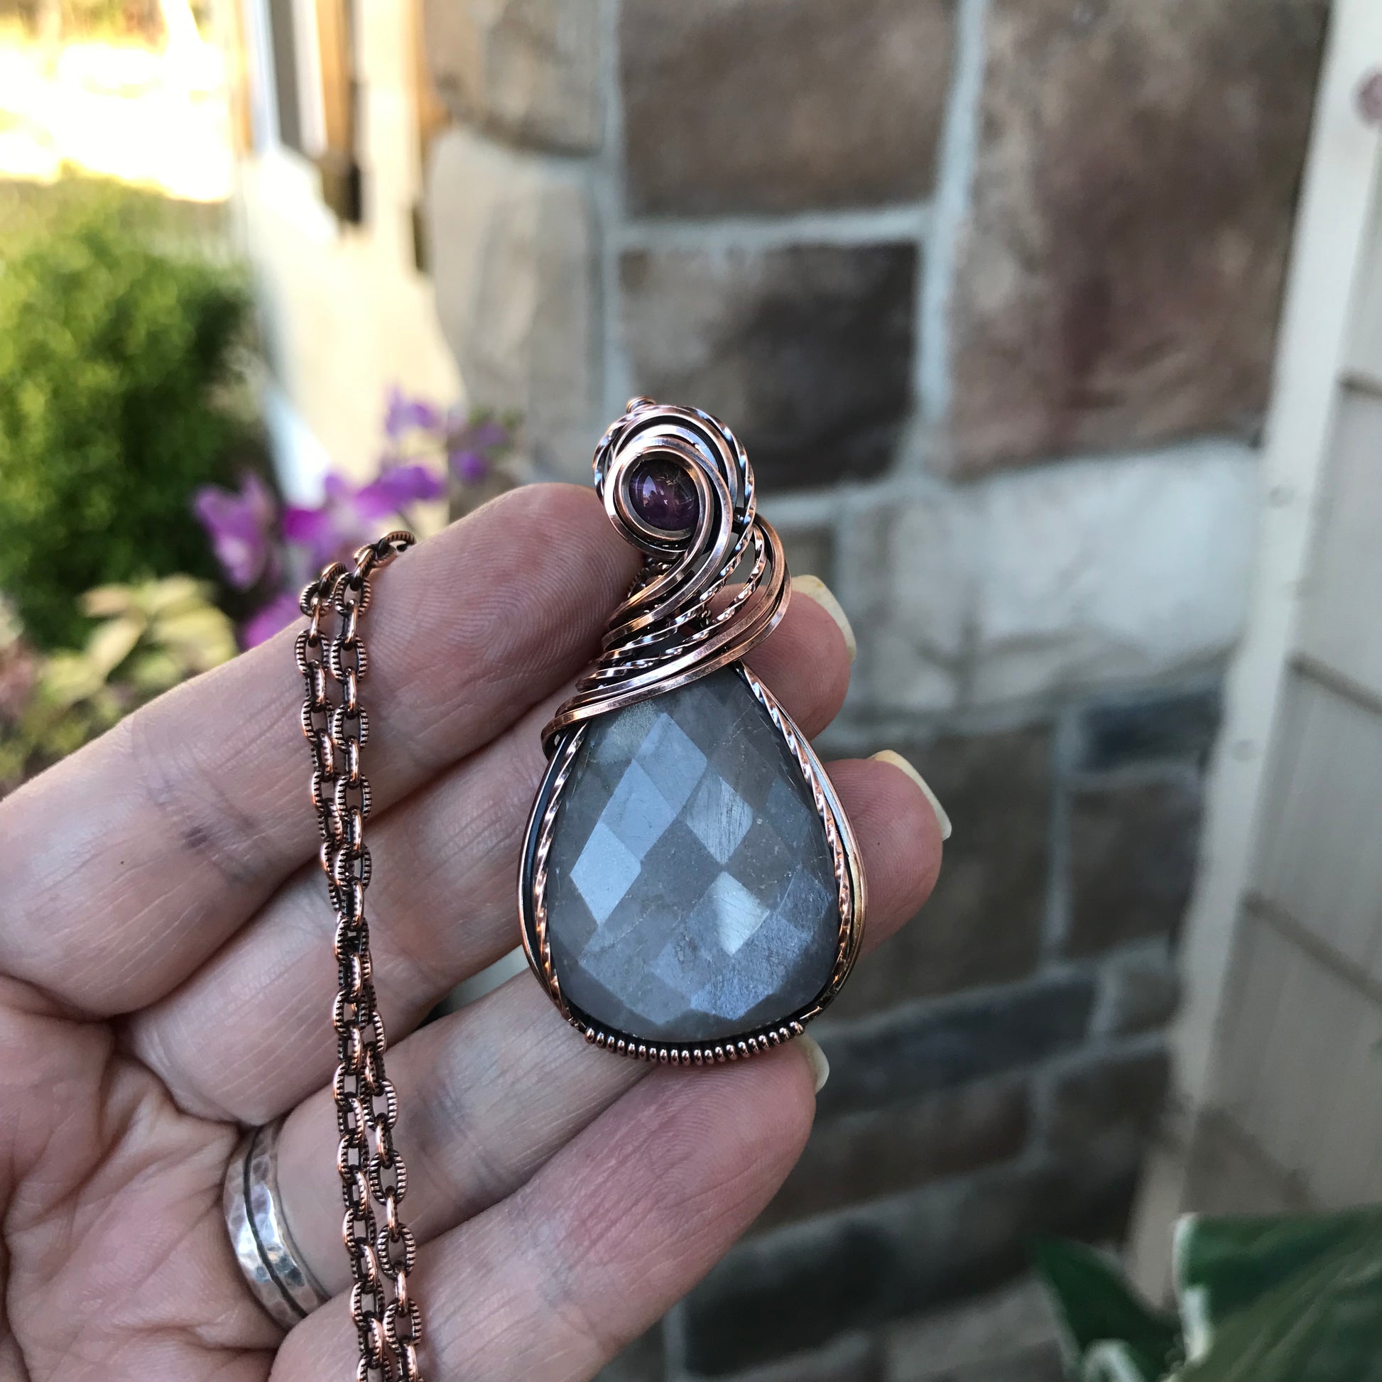
<instances>
[{"instance_id":1,"label":"hammered silver ring with dark groove on the finger","mask_svg":"<svg viewBox=\"0 0 1382 1382\"><path fill-rule=\"evenodd\" d=\"M223 1205L235 1260L254 1299L292 1329L330 1295L303 1262L278 1197L278 1137L283 1119L253 1128L225 1168Z\"/></svg>"}]
</instances>

